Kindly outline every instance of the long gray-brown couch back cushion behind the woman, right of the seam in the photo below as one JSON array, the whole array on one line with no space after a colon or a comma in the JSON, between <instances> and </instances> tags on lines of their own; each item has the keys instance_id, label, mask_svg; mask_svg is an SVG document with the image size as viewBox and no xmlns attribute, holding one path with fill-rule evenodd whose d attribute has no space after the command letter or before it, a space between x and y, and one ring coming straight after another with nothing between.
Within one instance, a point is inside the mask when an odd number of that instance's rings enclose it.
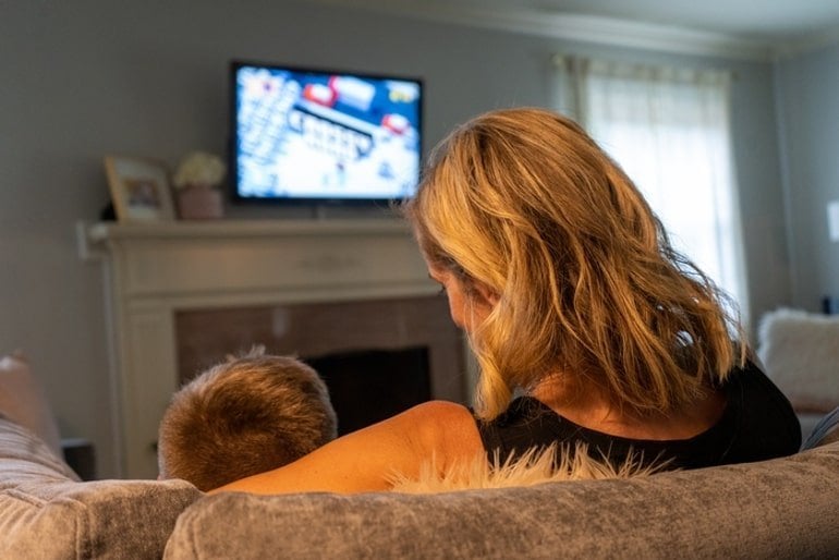
<instances>
[{"instance_id":1,"label":"long gray-brown couch back cushion behind the woman, right of the seam","mask_svg":"<svg viewBox=\"0 0 839 560\"><path fill-rule=\"evenodd\" d=\"M165 558L836 558L839 443L629 480L437 495L220 494Z\"/></svg>"}]
</instances>

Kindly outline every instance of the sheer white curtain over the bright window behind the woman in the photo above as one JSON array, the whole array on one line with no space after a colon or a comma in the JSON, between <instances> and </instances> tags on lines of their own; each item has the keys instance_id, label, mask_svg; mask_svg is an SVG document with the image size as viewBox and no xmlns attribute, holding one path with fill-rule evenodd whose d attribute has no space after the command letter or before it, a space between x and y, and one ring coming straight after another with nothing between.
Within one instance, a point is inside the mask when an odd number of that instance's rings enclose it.
<instances>
[{"instance_id":1,"label":"sheer white curtain over the bright window behind the woman","mask_svg":"<svg viewBox=\"0 0 839 560\"><path fill-rule=\"evenodd\" d=\"M731 295L747 321L731 157L730 75L557 57L555 108L617 160L673 245Z\"/></svg>"}]
</instances>

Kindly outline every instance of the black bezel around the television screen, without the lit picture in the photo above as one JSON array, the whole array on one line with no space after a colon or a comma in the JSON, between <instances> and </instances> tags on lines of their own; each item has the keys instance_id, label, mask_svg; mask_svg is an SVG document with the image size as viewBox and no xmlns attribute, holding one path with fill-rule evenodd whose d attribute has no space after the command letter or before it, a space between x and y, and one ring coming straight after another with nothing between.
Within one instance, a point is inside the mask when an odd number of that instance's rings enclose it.
<instances>
[{"instance_id":1,"label":"black bezel around the television screen, without the lit picture","mask_svg":"<svg viewBox=\"0 0 839 560\"><path fill-rule=\"evenodd\" d=\"M270 197L262 197L262 196L242 196L239 192L239 158L236 155L236 146L239 145L239 127L236 126L236 119L238 119L238 82L236 82L236 74L239 69L243 66L251 66L251 68L264 68L268 70L283 70L283 71L290 71L290 72L300 72L300 73L313 73L313 74L332 74L332 75L342 75L342 76L355 76L361 78L370 78L370 80L394 80L394 81L404 81L404 82L413 82L420 86L420 101L417 107L417 133L418 133L418 139L417 144L420 146L420 161L417 166L417 175L422 173L423 168L423 161L425 159L425 144L424 144L424 136L425 136L425 82L422 77L418 76L411 76L406 74L391 74L391 73L385 73L385 72L367 72L367 71L355 71L355 70L346 70L346 69L335 69L335 68L325 68L325 66L317 66L317 65L306 65L306 64L282 64L279 62L263 62L263 61L255 61L255 60L243 60L243 59L236 59L232 60L229 65L229 73L228 73L228 125L230 127L229 130L229 142L228 142L228 149L227 149L227 161L228 161L228 192L230 193L230 199L234 204L239 205L247 205L247 206L292 206L292 207L320 207L320 206L328 206L328 207L391 207L396 203L400 203L402 200L405 200L406 198L376 198L376 197L369 197L369 198L360 198L360 197L283 197L283 196L270 196ZM417 176L417 183L420 181L420 176Z\"/></svg>"}]
</instances>

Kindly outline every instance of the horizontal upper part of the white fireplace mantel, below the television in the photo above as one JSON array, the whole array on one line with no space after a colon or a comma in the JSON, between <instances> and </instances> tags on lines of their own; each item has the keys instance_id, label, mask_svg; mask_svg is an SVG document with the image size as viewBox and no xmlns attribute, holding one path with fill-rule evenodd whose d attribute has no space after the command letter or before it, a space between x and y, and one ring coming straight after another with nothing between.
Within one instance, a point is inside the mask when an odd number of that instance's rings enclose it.
<instances>
[{"instance_id":1,"label":"horizontal upper part of the white fireplace mantel, below the television","mask_svg":"<svg viewBox=\"0 0 839 560\"><path fill-rule=\"evenodd\" d=\"M114 292L132 297L209 294L203 305L222 306L433 290L398 220L96 223L86 239L82 253L109 263Z\"/></svg>"}]
</instances>

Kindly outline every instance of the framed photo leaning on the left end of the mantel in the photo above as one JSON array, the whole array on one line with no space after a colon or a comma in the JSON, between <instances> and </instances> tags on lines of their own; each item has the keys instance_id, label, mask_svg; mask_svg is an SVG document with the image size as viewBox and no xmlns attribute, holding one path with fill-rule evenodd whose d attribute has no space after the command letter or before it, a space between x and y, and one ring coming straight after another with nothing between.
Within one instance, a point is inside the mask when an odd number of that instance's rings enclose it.
<instances>
[{"instance_id":1,"label":"framed photo leaning on the left end of the mantel","mask_svg":"<svg viewBox=\"0 0 839 560\"><path fill-rule=\"evenodd\" d=\"M166 166L151 159L106 156L105 172L119 221L149 222L174 219Z\"/></svg>"}]
</instances>

